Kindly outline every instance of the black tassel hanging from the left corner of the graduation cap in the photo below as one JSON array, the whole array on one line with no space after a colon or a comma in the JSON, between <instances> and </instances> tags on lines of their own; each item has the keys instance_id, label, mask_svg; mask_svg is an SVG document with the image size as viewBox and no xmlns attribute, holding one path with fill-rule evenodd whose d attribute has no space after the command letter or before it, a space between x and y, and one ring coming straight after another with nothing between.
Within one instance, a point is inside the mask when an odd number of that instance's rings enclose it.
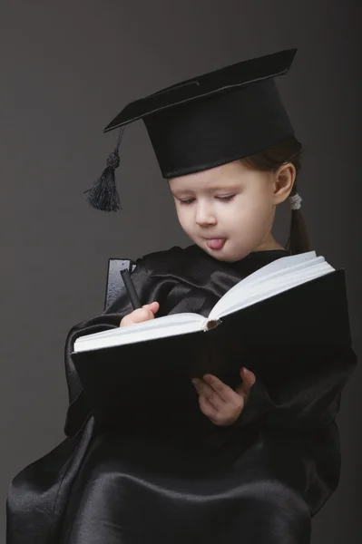
<instances>
[{"instance_id":1,"label":"black tassel hanging from the left corner of the graduation cap","mask_svg":"<svg viewBox=\"0 0 362 544\"><path fill-rule=\"evenodd\" d=\"M89 193L87 201L94 209L102 211L118 211L120 207L120 197L115 183L114 170L120 166L119 147L122 139L124 127L121 128L117 145L107 159L107 166L103 170L101 177L95 181L91 189L84 190Z\"/></svg>"}]
</instances>

